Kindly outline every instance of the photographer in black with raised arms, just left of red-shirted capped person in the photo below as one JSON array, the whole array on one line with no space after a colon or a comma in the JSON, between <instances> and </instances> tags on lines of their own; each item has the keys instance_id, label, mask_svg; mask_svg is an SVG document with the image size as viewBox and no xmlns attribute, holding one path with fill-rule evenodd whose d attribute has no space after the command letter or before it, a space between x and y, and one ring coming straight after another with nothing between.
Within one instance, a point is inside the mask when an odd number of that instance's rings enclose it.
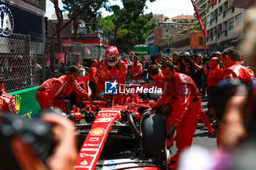
<instances>
[{"instance_id":1,"label":"photographer in black with raised arms, just left of red-shirted capped person","mask_svg":"<svg viewBox=\"0 0 256 170\"><path fill-rule=\"evenodd\" d=\"M197 88L199 92L201 91L201 85L202 85L202 71L203 66L201 63L202 54L198 53L197 57L194 59L190 59L190 63L186 64L186 73L189 75L189 77L194 80L195 85L197 85Z\"/></svg>"}]
</instances>

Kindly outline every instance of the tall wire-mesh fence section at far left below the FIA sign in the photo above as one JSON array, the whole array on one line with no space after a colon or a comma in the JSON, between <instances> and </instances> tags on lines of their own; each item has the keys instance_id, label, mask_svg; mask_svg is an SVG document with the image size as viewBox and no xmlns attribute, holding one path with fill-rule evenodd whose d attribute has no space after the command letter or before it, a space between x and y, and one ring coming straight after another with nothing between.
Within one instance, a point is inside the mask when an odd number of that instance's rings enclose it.
<instances>
[{"instance_id":1,"label":"tall wire-mesh fence section at far left below the FIA sign","mask_svg":"<svg viewBox=\"0 0 256 170\"><path fill-rule=\"evenodd\" d=\"M42 34L0 37L0 76L5 91L39 85L45 79L45 39Z\"/></svg>"}]
</instances>

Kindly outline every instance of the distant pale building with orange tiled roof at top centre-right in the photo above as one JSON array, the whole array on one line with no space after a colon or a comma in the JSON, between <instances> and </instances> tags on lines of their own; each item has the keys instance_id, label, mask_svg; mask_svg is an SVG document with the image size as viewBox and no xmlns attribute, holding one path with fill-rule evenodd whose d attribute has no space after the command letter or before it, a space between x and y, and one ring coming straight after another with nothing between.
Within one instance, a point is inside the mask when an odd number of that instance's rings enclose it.
<instances>
[{"instance_id":1,"label":"distant pale building with orange tiled roof at top centre-right","mask_svg":"<svg viewBox=\"0 0 256 170\"><path fill-rule=\"evenodd\" d=\"M195 18L194 15L178 15L173 17L172 20L177 23L178 36L182 35L181 32L184 31L184 29L197 25L197 23L195 23L197 18Z\"/></svg>"}]
</instances>

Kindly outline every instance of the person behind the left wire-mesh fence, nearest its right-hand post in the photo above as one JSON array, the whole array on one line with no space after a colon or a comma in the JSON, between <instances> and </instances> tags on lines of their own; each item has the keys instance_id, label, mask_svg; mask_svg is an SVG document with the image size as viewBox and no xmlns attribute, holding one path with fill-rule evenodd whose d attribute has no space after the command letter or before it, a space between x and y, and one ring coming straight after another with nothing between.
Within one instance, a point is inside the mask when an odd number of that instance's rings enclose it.
<instances>
[{"instance_id":1,"label":"person behind the left wire-mesh fence, nearest its right-hand post","mask_svg":"<svg viewBox=\"0 0 256 170\"><path fill-rule=\"evenodd\" d=\"M31 70L33 75L33 85L39 85L42 83L42 66L40 66L34 58L31 59Z\"/></svg>"}]
</instances>

